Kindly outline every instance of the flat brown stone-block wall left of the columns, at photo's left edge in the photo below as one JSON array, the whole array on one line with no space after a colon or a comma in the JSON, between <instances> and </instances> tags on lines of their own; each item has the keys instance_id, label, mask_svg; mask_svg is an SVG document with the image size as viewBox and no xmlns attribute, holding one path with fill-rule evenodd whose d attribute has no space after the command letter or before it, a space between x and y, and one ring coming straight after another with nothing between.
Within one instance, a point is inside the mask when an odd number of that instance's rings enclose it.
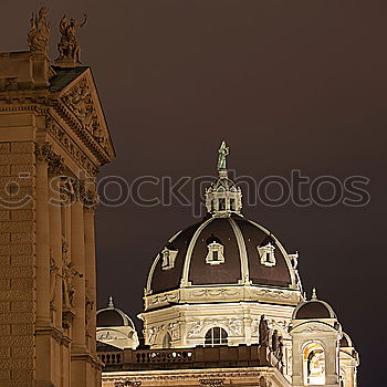
<instances>
[{"instance_id":1,"label":"flat brown stone-block wall left of the columns, at photo's left edge","mask_svg":"<svg viewBox=\"0 0 387 387\"><path fill-rule=\"evenodd\" d=\"M34 143L0 143L0 386L34 379Z\"/></svg>"}]
</instances>

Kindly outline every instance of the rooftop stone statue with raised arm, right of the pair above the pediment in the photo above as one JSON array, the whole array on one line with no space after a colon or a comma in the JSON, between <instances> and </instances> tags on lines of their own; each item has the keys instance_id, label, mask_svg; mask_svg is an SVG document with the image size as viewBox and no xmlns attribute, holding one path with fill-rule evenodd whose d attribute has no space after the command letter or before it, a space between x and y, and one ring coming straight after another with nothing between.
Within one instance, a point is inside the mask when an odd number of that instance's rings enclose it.
<instances>
[{"instance_id":1,"label":"rooftop stone statue with raised arm, right of the pair above the pediment","mask_svg":"<svg viewBox=\"0 0 387 387\"><path fill-rule=\"evenodd\" d=\"M57 44L60 60L72 60L75 63L81 63L81 48L76 41L76 30L82 29L87 22L87 15L84 15L84 21L79 24L75 19L71 19L67 22L66 15L64 15L60 22L59 30L62 34L61 41Z\"/></svg>"}]
</instances>

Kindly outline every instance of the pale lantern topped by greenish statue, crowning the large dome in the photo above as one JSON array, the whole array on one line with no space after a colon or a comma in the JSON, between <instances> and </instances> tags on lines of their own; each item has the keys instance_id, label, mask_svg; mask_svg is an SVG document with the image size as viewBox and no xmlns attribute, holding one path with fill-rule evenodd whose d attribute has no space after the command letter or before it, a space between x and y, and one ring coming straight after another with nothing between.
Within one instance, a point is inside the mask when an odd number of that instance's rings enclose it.
<instances>
[{"instance_id":1,"label":"pale lantern topped by greenish statue, crowning the large dome","mask_svg":"<svg viewBox=\"0 0 387 387\"><path fill-rule=\"evenodd\" d=\"M242 192L229 179L227 170L227 156L230 148L222 142L218 150L217 170L219 178L206 190L206 207L213 217L229 217L232 212L239 213L242 209Z\"/></svg>"}]
</instances>

